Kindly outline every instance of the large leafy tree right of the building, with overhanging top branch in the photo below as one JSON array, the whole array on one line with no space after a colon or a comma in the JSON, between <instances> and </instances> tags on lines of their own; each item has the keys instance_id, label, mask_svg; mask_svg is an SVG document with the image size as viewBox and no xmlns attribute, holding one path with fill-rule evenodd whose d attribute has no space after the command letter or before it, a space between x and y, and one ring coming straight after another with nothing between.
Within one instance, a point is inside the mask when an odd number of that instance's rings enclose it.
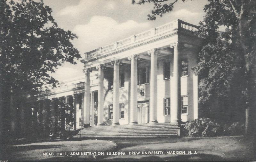
<instances>
[{"instance_id":1,"label":"large leafy tree right of the building, with overhanging top branch","mask_svg":"<svg viewBox=\"0 0 256 162\"><path fill-rule=\"evenodd\" d=\"M178 0L132 0L132 4L154 4L152 15L148 15L149 20L172 11L176 2ZM198 36L205 41L199 53L198 66L194 69L199 75L199 102L206 111L211 111L210 114L213 110L237 112L241 118L239 112L245 110L245 133L253 133L256 106L256 1L208 0L204 12ZM226 28L225 32L218 31L220 26ZM230 117L233 117L232 114Z\"/></svg>"}]
</instances>

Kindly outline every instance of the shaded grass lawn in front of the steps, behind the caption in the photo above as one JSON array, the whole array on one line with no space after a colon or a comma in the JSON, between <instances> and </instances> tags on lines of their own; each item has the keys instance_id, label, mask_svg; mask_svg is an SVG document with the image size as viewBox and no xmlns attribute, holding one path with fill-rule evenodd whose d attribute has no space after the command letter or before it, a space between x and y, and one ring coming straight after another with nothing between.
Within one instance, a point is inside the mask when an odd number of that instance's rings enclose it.
<instances>
[{"instance_id":1,"label":"shaded grass lawn in front of the steps, behind the caption","mask_svg":"<svg viewBox=\"0 0 256 162\"><path fill-rule=\"evenodd\" d=\"M174 161L174 160L256 160L255 142L242 136L181 137L133 139L76 139L66 141L36 141L9 143L1 146L1 160L11 161ZM70 156L74 151L102 151L104 156ZM106 155L124 151L126 155ZM140 151L140 155L129 155ZM141 151L163 151L161 155L141 155ZM166 154L166 151L191 151L191 154ZM194 152L196 151L196 154ZM54 152L54 156L43 156ZM56 156L66 152L68 156Z\"/></svg>"}]
</instances>

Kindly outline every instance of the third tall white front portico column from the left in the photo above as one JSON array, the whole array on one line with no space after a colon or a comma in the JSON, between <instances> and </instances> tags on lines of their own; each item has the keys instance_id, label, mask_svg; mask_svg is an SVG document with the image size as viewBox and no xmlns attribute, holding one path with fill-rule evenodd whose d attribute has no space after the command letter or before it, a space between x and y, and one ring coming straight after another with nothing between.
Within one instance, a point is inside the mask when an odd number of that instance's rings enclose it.
<instances>
[{"instance_id":1,"label":"third tall white front portico column from the left","mask_svg":"<svg viewBox=\"0 0 256 162\"><path fill-rule=\"evenodd\" d=\"M114 80L113 80L113 125L119 124L119 65L122 61L115 60L111 62L114 64Z\"/></svg>"}]
</instances>

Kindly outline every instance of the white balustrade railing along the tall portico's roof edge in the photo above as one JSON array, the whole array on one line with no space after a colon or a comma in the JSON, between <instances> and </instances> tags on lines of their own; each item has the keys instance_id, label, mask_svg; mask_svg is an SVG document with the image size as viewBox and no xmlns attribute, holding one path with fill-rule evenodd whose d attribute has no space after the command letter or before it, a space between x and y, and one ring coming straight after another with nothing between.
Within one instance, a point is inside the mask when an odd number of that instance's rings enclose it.
<instances>
[{"instance_id":1,"label":"white balustrade railing along the tall portico's roof edge","mask_svg":"<svg viewBox=\"0 0 256 162\"><path fill-rule=\"evenodd\" d=\"M160 34L163 34L163 33L166 33L166 32L171 32L171 31L177 30L177 29L179 30L180 28L185 29L185 30L190 31L190 32L197 32L198 31L198 26L186 23L186 22L181 21L181 20L177 20L177 21L174 21L174 22L171 22L171 23L153 28L153 29L148 30L146 32L142 32L142 33L139 33L137 35L133 35L132 37L129 37L129 38L126 38L126 39L123 39L123 40L120 40L120 41L116 41L115 43L112 43L108 46L104 46L102 48L100 47L98 49L92 50L88 53L85 53L85 57L86 57L86 59L91 59L96 55L100 55L101 53L106 53L106 52L109 52L109 51L114 50L116 48L127 46L127 45L130 45L130 44L134 43L134 42L138 42L138 41L141 41L143 39L151 38L151 37L154 37L156 35L160 35Z\"/></svg>"}]
</instances>

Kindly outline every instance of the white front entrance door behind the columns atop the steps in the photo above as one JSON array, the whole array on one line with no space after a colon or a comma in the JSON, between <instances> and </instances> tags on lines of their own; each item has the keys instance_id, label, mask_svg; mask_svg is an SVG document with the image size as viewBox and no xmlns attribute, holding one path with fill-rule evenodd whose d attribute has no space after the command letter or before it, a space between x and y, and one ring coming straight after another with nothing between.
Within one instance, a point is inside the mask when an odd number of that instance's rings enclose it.
<instances>
[{"instance_id":1,"label":"white front entrance door behind the columns atop the steps","mask_svg":"<svg viewBox=\"0 0 256 162\"><path fill-rule=\"evenodd\" d=\"M149 108L148 102L138 103L138 123L139 124L148 123L148 108Z\"/></svg>"}]
</instances>

